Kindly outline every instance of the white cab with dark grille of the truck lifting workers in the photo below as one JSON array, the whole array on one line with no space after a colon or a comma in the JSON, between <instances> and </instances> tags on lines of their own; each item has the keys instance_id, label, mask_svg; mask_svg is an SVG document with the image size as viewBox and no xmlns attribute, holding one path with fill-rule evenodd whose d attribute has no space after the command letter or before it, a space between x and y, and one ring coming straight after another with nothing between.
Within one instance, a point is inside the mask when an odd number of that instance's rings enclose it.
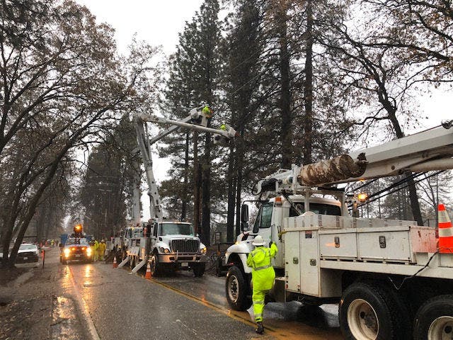
<instances>
[{"instance_id":1,"label":"white cab with dark grille of the truck lifting workers","mask_svg":"<svg viewBox=\"0 0 453 340\"><path fill-rule=\"evenodd\" d=\"M188 222L164 220L151 226L149 263L151 275L164 270L192 270L203 276L207 262L206 246Z\"/></svg>"}]
</instances>

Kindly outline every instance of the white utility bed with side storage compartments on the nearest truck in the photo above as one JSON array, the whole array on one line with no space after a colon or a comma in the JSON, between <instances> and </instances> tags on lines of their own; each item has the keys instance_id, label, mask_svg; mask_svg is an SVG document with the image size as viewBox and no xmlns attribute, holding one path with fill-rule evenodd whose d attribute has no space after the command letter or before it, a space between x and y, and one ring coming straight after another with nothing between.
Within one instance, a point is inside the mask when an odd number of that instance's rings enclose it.
<instances>
[{"instance_id":1,"label":"white utility bed with side storage compartments on the nearest truck","mask_svg":"<svg viewBox=\"0 0 453 340\"><path fill-rule=\"evenodd\" d=\"M436 254L436 243L435 228L413 221L288 217L283 233L287 290L340 296L343 271L453 279L453 254Z\"/></svg>"}]
</instances>

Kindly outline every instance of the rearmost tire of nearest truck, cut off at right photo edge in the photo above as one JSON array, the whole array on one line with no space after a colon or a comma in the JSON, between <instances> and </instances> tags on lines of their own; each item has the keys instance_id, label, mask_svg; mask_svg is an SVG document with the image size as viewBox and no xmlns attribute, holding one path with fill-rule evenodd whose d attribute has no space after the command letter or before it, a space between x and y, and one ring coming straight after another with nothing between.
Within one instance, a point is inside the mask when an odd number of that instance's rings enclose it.
<instances>
[{"instance_id":1,"label":"rearmost tire of nearest truck, cut off at right photo edge","mask_svg":"<svg viewBox=\"0 0 453 340\"><path fill-rule=\"evenodd\" d=\"M453 339L453 295L440 295L426 301L415 314L415 340Z\"/></svg>"}]
</instances>

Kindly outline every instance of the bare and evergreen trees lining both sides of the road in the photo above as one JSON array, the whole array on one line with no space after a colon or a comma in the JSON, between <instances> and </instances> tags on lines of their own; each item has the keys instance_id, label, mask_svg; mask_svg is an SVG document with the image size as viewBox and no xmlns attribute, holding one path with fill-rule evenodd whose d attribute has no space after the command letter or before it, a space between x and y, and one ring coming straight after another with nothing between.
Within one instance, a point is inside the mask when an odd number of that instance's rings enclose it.
<instances>
[{"instance_id":1,"label":"bare and evergreen trees lining both sides of the road","mask_svg":"<svg viewBox=\"0 0 453 340\"><path fill-rule=\"evenodd\" d=\"M212 127L238 132L219 146L179 130L158 150L171 162L167 215L193 221L210 245L215 231L229 242L239 232L257 179L423 128L436 113L420 99L453 81L449 1L205 0L165 68L152 41L118 55L113 28L75 2L7 0L0 13L6 267L24 237L58 234L67 215L96 237L125 225L139 171L132 112L183 118L205 102ZM423 176L361 183L380 192L362 213L432 223L451 175Z\"/></svg>"}]
</instances>

